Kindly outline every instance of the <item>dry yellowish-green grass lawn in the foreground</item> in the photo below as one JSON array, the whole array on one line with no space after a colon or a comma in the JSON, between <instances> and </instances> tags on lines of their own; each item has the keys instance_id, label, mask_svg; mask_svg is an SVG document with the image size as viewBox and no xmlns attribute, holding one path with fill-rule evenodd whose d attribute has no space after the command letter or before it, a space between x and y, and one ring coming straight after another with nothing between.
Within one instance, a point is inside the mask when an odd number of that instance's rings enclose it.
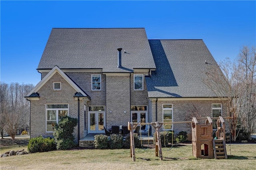
<instances>
[{"instance_id":1,"label":"dry yellowish-green grass lawn in the foreground","mask_svg":"<svg viewBox=\"0 0 256 170\"><path fill-rule=\"evenodd\" d=\"M17 148L26 148L13 146ZM12 147L4 148L1 153ZM18 150L17 149L17 150ZM26 149L27 150L27 149ZM192 156L192 145L162 148L163 161L155 156L155 149L135 149L136 162L132 161L129 149L119 150L57 150L52 152L26 154L0 158L2 167L17 169L225 169L251 170L256 167L256 144L232 144L234 157L227 160L197 159ZM229 147L227 147L229 150ZM230 151L228 151L230 154Z\"/></svg>"}]
</instances>

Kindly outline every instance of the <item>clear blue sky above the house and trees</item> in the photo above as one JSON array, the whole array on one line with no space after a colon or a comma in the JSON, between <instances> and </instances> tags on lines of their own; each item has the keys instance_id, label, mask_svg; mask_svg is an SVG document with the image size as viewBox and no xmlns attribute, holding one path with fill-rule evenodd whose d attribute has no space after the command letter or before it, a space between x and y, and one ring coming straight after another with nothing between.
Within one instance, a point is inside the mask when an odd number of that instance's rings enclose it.
<instances>
[{"instance_id":1,"label":"clear blue sky above the house and trees","mask_svg":"<svg viewBox=\"0 0 256 170\"><path fill-rule=\"evenodd\" d=\"M52 28L145 28L203 39L218 62L256 45L256 1L0 1L1 81L32 83Z\"/></svg>"}]
</instances>

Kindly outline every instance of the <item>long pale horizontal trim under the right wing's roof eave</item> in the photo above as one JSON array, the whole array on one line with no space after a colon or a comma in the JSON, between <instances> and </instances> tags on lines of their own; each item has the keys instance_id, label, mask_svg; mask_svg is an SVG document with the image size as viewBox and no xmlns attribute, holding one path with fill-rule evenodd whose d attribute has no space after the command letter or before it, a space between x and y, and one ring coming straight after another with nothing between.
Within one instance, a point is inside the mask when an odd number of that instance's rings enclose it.
<instances>
[{"instance_id":1,"label":"long pale horizontal trim under the right wing's roof eave","mask_svg":"<svg viewBox=\"0 0 256 170\"><path fill-rule=\"evenodd\" d=\"M222 100L228 100L226 98L214 98L214 97L175 97L175 98L157 98L158 101L222 101ZM156 101L156 98L149 98L151 101Z\"/></svg>"}]
</instances>

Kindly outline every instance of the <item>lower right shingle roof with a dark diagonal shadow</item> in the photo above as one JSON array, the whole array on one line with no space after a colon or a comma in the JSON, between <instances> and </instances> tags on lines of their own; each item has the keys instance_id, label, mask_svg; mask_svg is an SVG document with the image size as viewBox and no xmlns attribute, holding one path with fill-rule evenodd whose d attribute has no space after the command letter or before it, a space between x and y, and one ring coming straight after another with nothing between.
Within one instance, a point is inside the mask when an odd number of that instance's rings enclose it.
<instances>
[{"instance_id":1,"label":"lower right shingle roof with a dark diagonal shadow","mask_svg":"<svg viewBox=\"0 0 256 170\"><path fill-rule=\"evenodd\" d=\"M216 65L202 40L149 40L156 71L146 77L148 97L217 97L202 81Z\"/></svg>"}]
</instances>

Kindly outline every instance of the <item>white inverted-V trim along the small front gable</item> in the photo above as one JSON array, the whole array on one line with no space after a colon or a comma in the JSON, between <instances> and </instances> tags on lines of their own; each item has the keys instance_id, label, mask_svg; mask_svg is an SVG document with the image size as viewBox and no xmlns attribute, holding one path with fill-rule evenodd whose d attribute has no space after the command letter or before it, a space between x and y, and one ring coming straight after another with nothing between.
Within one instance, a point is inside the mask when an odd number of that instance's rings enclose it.
<instances>
[{"instance_id":1,"label":"white inverted-V trim along the small front gable","mask_svg":"<svg viewBox=\"0 0 256 170\"><path fill-rule=\"evenodd\" d=\"M77 92L82 93L82 95L87 96L58 66L53 67L53 69L32 89L26 97L29 97L32 93L36 93L41 87L55 74L59 73L62 78L64 78Z\"/></svg>"}]
</instances>

